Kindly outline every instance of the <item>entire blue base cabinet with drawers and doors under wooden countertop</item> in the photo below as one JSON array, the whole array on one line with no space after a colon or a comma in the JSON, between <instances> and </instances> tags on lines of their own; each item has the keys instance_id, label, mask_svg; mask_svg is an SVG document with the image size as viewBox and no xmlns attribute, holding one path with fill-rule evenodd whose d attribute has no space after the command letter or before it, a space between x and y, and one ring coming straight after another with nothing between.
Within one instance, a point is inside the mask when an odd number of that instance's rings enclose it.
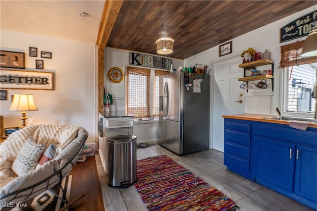
<instances>
[{"instance_id":1,"label":"entire blue base cabinet with drawers and doors under wooden countertop","mask_svg":"<svg viewBox=\"0 0 317 211\"><path fill-rule=\"evenodd\" d=\"M224 164L317 210L317 128L225 118Z\"/></svg>"}]
</instances>

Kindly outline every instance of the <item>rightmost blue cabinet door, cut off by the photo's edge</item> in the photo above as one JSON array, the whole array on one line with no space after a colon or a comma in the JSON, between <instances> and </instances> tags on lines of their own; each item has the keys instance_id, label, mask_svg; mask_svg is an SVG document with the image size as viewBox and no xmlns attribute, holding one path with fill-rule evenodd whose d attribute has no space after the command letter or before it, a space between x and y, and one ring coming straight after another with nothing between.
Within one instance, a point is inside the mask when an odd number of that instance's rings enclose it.
<instances>
[{"instance_id":1,"label":"rightmost blue cabinet door, cut off by the photo's edge","mask_svg":"<svg viewBox=\"0 0 317 211\"><path fill-rule=\"evenodd\" d=\"M317 148L297 145L294 193L317 202Z\"/></svg>"}]
</instances>

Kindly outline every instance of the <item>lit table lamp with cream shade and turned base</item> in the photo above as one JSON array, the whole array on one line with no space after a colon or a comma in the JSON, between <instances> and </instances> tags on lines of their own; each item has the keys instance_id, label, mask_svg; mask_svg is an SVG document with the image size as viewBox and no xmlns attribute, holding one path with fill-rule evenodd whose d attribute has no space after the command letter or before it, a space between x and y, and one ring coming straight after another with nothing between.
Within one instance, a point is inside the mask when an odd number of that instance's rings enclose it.
<instances>
[{"instance_id":1,"label":"lit table lamp with cream shade and turned base","mask_svg":"<svg viewBox=\"0 0 317 211\"><path fill-rule=\"evenodd\" d=\"M38 110L38 108L35 106L32 94L14 94L10 110L20 111L20 113L22 114L21 128L23 128L26 127L26 113L30 110Z\"/></svg>"}]
</instances>

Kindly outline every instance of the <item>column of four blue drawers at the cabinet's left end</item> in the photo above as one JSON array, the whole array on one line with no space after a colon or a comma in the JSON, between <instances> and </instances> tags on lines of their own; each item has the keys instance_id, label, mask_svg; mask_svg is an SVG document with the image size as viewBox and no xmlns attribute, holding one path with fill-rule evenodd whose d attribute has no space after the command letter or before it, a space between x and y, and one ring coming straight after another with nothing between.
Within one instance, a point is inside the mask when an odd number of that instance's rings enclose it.
<instances>
[{"instance_id":1,"label":"column of four blue drawers at the cabinet's left end","mask_svg":"<svg viewBox=\"0 0 317 211\"><path fill-rule=\"evenodd\" d=\"M225 119L224 130L224 165L230 171L254 180L250 175L250 122Z\"/></svg>"}]
</instances>

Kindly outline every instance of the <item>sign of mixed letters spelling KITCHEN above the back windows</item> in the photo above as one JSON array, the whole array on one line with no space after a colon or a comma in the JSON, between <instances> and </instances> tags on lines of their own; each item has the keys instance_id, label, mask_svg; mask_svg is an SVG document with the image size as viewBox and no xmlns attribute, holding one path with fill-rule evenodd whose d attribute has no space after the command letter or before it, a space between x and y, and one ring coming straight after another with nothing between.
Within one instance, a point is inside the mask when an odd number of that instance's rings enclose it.
<instances>
[{"instance_id":1,"label":"sign of mixed letters spelling KITCHEN above the back windows","mask_svg":"<svg viewBox=\"0 0 317 211\"><path fill-rule=\"evenodd\" d=\"M156 55L130 52L129 64L169 70L170 65L172 64L172 59Z\"/></svg>"}]
</instances>

